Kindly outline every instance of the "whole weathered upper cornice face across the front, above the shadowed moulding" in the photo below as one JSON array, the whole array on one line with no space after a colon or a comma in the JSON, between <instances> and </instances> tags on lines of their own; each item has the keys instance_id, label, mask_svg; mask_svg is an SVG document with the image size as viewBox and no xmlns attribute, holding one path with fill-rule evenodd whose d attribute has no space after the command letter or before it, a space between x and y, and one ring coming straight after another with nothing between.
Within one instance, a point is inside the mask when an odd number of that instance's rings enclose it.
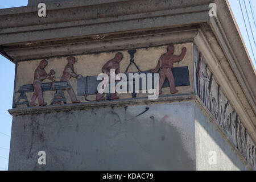
<instances>
[{"instance_id":1,"label":"whole weathered upper cornice face across the front, above the shadowed moulding","mask_svg":"<svg viewBox=\"0 0 256 182\"><path fill-rule=\"evenodd\" d=\"M86 1L83 2L86 4ZM72 1L72 4L76 7L61 9L65 5L63 3L51 9L47 5L46 18L39 18L38 9L30 10L29 6L20 8L16 14L0 10L1 45L26 42L23 45L28 46L27 42L33 42L34 46L38 46L38 41L42 40L93 37L100 34L105 36L122 31L155 30L209 20L209 3L205 0L196 3L180 0L118 1L93 6L79 6L79 3Z\"/></svg>"}]
</instances>

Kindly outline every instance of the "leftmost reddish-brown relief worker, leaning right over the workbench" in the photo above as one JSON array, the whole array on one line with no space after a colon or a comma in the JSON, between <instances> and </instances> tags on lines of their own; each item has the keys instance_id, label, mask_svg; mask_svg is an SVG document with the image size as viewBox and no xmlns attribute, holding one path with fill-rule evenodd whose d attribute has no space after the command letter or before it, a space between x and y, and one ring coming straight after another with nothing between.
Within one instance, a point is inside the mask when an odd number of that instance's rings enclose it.
<instances>
[{"instance_id":1,"label":"leftmost reddish-brown relief worker, leaning right over the workbench","mask_svg":"<svg viewBox=\"0 0 256 182\"><path fill-rule=\"evenodd\" d=\"M31 98L30 106L36 106L37 104L35 103L36 98L38 98L38 104L39 106L46 106L47 103L43 101L43 93L42 93L42 81L45 79L55 81L55 77L51 76L54 75L55 72L53 69L51 69L50 73L46 73L44 68L46 68L48 62L47 60L42 60L40 61L40 64L38 68L36 68L35 73L34 73L34 94Z\"/></svg>"}]
</instances>

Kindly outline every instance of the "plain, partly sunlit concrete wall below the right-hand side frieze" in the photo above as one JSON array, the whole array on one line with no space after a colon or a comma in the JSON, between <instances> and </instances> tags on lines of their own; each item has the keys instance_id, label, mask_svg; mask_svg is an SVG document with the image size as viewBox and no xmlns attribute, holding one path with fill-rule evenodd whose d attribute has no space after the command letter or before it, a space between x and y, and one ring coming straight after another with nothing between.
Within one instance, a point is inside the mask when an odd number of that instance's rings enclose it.
<instances>
[{"instance_id":1,"label":"plain, partly sunlit concrete wall below the right-hand side frieze","mask_svg":"<svg viewBox=\"0 0 256 182\"><path fill-rule=\"evenodd\" d=\"M196 169L247 170L240 158L225 142L204 113L195 106ZM216 152L216 164L210 164L211 151Z\"/></svg>"}]
</instances>

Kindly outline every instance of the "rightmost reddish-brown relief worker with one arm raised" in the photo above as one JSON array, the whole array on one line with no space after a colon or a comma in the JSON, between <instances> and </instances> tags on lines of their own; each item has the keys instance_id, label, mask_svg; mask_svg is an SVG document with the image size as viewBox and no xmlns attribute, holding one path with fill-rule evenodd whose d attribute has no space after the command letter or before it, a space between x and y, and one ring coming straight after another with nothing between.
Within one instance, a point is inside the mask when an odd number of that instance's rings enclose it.
<instances>
[{"instance_id":1,"label":"rightmost reddish-brown relief worker with one arm raised","mask_svg":"<svg viewBox=\"0 0 256 182\"><path fill-rule=\"evenodd\" d=\"M187 48L182 48L182 52L179 56L174 55L174 46L167 46L167 52L160 56L158 60L158 65L156 65L155 69L151 69L151 72L156 73L160 69L160 78L159 78L159 95L162 93L162 87L164 84L164 80L166 78L170 84L170 91L172 94L179 92L179 90L175 89L175 81L174 75L172 74L172 68L174 67L174 63L183 60Z\"/></svg>"}]
</instances>

